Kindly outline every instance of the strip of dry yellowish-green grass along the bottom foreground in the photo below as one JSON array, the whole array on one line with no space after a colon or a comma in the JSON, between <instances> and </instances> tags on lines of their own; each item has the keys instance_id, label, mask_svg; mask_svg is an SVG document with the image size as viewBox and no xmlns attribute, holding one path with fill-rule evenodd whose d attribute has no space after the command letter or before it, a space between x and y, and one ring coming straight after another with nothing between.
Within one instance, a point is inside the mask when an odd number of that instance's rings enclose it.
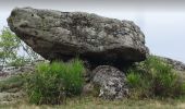
<instances>
[{"instance_id":1,"label":"strip of dry yellowish-green grass along the bottom foreground","mask_svg":"<svg viewBox=\"0 0 185 109\"><path fill-rule=\"evenodd\" d=\"M67 98L65 105L36 106L26 102L1 105L2 109L184 109L185 99L103 100L95 97Z\"/></svg>"}]
</instances>

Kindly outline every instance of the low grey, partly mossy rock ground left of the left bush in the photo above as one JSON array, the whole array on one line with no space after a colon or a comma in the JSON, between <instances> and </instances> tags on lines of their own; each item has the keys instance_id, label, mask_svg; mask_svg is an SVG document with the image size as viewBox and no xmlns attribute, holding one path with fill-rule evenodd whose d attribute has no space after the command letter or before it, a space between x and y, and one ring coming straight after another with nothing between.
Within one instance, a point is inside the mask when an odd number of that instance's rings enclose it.
<instances>
[{"instance_id":1,"label":"low grey, partly mossy rock ground left of the left bush","mask_svg":"<svg viewBox=\"0 0 185 109\"><path fill-rule=\"evenodd\" d=\"M23 80L16 78L16 81L14 77L22 77L23 74L34 73L35 66L39 62L48 61L37 60L33 64L17 68L7 65L0 71L0 105L16 104L24 100L26 93L23 89Z\"/></svg>"}]
</instances>

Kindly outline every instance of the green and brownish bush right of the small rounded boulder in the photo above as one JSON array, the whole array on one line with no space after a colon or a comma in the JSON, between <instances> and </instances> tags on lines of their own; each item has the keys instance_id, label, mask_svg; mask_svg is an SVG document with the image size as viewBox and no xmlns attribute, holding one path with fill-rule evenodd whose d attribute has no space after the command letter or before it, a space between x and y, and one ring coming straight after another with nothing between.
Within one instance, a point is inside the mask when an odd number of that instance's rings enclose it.
<instances>
[{"instance_id":1,"label":"green and brownish bush right of the small rounded boulder","mask_svg":"<svg viewBox=\"0 0 185 109\"><path fill-rule=\"evenodd\" d=\"M131 68L127 71L127 83L131 96L135 98L177 97L185 93L185 85L180 82L172 66L155 56Z\"/></svg>"}]
</instances>

